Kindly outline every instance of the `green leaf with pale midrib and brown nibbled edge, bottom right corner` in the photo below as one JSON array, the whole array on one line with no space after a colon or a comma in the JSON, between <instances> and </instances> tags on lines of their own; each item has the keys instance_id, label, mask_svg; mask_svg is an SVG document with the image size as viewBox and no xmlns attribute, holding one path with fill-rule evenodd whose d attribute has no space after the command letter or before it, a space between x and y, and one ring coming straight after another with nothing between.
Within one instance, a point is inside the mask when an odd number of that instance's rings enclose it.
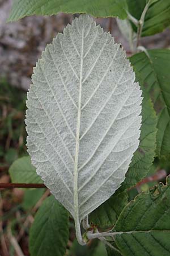
<instances>
[{"instance_id":1,"label":"green leaf with pale midrib and brown nibbled edge, bottom right corner","mask_svg":"<svg viewBox=\"0 0 170 256\"><path fill-rule=\"evenodd\" d=\"M124 256L170 255L170 177L122 211L114 238Z\"/></svg>"}]
</instances>

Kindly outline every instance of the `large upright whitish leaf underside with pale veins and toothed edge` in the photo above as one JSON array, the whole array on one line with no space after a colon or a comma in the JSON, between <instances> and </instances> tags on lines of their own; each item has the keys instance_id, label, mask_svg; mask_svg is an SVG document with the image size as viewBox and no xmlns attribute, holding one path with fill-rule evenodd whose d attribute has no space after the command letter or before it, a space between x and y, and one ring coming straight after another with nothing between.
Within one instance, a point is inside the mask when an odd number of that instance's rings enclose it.
<instances>
[{"instance_id":1,"label":"large upright whitish leaf underside with pale veins and toothed edge","mask_svg":"<svg viewBox=\"0 0 170 256\"><path fill-rule=\"evenodd\" d=\"M80 15L46 47L27 101L27 144L46 187L80 221L125 179L141 90L120 45Z\"/></svg>"}]
</instances>

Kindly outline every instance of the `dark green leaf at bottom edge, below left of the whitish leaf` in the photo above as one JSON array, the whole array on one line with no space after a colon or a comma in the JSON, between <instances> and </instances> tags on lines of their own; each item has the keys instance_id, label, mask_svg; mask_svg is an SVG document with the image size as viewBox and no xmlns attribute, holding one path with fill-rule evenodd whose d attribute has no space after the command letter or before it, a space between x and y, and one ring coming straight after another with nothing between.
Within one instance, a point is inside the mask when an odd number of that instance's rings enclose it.
<instances>
[{"instance_id":1,"label":"dark green leaf at bottom edge, below left of the whitish leaf","mask_svg":"<svg viewBox=\"0 0 170 256\"><path fill-rule=\"evenodd\" d=\"M42 203L31 226L31 256L63 256L68 240L69 213L50 196Z\"/></svg>"}]
</instances>

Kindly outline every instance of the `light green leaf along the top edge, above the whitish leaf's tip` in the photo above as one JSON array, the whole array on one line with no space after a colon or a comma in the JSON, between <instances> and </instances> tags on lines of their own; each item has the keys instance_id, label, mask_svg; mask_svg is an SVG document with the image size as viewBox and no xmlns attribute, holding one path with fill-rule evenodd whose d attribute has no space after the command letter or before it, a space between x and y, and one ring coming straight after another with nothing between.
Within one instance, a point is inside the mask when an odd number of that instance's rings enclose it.
<instances>
[{"instance_id":1,"label":"light green leaf along the top edge, above the whitish leaf's tip","mask_svg":"<svg viewBox=\"0 0 170 256\"><path fill-rule=\"evenodd\" d=\"M87 13L96 17L118 16L125 19L126 0L15 0L8 21L30 15Z\"/></svg>"}]
</instances>

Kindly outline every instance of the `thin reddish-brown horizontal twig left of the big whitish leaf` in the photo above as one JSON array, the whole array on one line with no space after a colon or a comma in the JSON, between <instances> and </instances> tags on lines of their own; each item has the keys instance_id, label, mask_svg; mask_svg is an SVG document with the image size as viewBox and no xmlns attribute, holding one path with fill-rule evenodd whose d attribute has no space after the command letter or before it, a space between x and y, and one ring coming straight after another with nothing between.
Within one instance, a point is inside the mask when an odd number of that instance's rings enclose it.
<instances>
[{"instance_id":1,"label":"thin reddish-brown horizontal twig left of the big whitish leaf","mask_svg":"<svg viewBox=\"0 0 170 256\"><path fill-rule=\"evenodd\" d=\"M37 183L0 183L0 188L46 188L46 186Z\"/></svg>"}]
</instances>

